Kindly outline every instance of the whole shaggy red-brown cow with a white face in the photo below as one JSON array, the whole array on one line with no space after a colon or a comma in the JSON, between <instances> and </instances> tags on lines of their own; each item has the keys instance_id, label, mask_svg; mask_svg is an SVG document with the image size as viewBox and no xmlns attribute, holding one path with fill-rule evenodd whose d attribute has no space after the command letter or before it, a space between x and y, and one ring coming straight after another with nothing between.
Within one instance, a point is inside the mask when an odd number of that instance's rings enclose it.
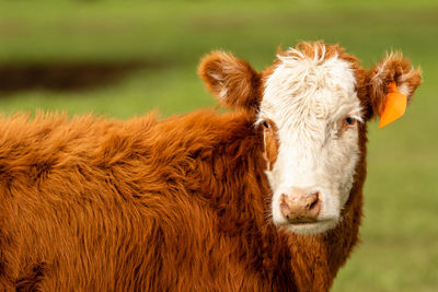
<instances>
[{"instance_id":1,"label":"whole shaggy red-brown cow with a white face","mask_svg":"<svg viewBox=\"0 0 438 292\"><path fill-rule=\"evenodd\" d=\"M330 290L358 242L367 122L419 69L304 42L198 73L233 110L0 118L2 290Z\"/></svg>"}]
</instances>

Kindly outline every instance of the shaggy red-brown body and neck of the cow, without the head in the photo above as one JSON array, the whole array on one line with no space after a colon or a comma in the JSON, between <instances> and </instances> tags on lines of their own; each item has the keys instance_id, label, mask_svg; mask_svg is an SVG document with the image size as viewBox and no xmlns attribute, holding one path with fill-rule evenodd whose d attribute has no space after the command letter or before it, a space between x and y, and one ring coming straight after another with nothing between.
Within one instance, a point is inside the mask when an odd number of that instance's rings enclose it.
<instances>
[{"instance_id":1,"label":"shaggy red-brown body and neck of the cow, without the head","mask_svg":"<svg viewBox=\"0 0 438 292\"><path fill-rule=\"evenodd\" d=\"M343 220L296 235L266 219L264 137L247 97L233 100L251 107L238 113L161 121L1 118L0 288L327 291L358 242L366 125Z\"/></svg>"}]
</instances>

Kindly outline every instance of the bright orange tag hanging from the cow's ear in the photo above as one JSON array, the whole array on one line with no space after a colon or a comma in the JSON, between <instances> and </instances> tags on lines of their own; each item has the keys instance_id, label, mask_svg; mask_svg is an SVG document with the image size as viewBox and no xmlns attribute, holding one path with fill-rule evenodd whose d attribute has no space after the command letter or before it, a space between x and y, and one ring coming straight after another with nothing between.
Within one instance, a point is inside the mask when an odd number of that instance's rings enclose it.
<instances>
[{"instance_id":1,"label":"bright orange tag hanging from the cow's ear","mask_svg":"<svg viewBox=\"0 0 438 292\"><path fill-rule=\"evenodd\" d=\"M406 95L397 90L395 82L391 82L388 86L387 102L380 115L379 129L402 117L406 110Z\"/></svg>"}]
</instances>

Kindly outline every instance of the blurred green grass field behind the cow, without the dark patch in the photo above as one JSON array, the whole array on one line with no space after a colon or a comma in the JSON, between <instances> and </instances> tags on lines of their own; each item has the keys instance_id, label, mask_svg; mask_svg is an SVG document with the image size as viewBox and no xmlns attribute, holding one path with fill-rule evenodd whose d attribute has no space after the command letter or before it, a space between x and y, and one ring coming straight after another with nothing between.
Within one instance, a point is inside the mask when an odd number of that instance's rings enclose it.
<instances>
[{"instance_id":1,"label":"blurred green grass field behind the cow, without the dark patch","mask_svg":"<svg viewBox=\"0 0 438 292\"><path fill-rule=\"evenodd\" d=\"M212 49L233 51L258 70L277 46L339 43L369 67L390 49L420 66L424 84L406 115L369 127L362 243L333 291L438 291L438 2L331 1L4 1L0 62L145 59L147 68L89 92L20 92L0 110L93 112L128 118L212 106L196 75Z\"/></svg>"}]
</instances>

